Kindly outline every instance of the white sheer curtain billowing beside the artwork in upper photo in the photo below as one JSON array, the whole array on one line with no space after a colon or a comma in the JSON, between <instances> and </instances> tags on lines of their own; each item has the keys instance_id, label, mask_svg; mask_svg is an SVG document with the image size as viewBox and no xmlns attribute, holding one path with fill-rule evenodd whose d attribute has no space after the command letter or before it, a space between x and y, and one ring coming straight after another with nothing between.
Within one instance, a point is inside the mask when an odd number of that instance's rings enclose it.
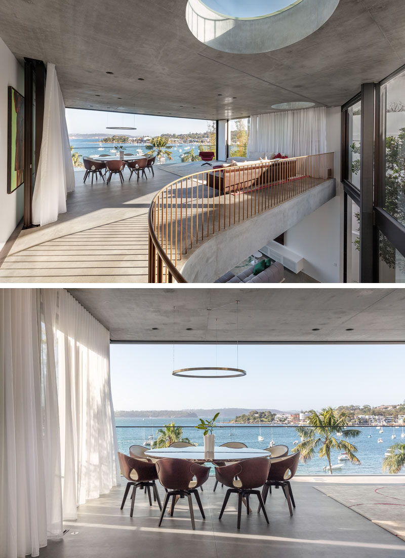
<instances>
[{"instance_id":1,"label":"white sheer curtain billowing beside the artwork in upper photo","mask_svg":"<svg viewBox=\"0 0 405 558\"><path fill-rule=\"evenodd\" d=\"M32 222L45 225L66 213L66 195L75 187L67 133L65 103L55 65L48 62L45 86L44 129L32 197Z\"/></svg>"}]
</instances>

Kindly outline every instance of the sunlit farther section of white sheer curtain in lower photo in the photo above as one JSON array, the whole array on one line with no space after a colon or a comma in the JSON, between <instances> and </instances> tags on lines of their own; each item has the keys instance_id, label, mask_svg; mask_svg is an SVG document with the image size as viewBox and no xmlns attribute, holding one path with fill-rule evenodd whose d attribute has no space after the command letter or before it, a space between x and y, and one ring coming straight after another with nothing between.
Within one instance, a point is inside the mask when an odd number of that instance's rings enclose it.
<instances>
[{"instance_id":1,"label":"sunlit farther section of white sheer curtain in lower photo","mask_svg":"<svg viewBox=\"0 0 405 558\"><path fill-rule=\"evenodd\" d=\"M66 291L56 329L64 519L119 484L109 332Z\"/></svg>"}]
</instances>

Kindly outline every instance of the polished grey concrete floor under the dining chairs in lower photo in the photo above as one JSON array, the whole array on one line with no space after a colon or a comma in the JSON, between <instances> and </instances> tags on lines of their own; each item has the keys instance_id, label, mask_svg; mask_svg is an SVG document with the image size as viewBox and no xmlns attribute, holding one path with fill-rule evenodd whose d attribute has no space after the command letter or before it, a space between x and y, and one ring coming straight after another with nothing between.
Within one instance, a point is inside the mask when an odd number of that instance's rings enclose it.
<instances>
[{"instance_id":1,"label":"polished grey concrete floor under the dining chairs in lower photo","mask_svg":"<svg viewBox=\"0 0 405 558\"><path fill-rule=\"evenodd\" d=\"M368 477L370 478L370 477ZM361 482L367 482L362 478ZM385 477L387 479L387 477ZM385 480L384 479L384 480ZM166 514L157 527L157 504L149 506L147 496L137 494L133 517L129 502L120 511L122 487L80 506L77 521L65 522L69 529L62 540L49 541L40 558L395 558L405 557L405 542L374 525L316 490L315 486L331 478L297 477L292 488L296 500L293 517L281 490L273 490L266 508L270 525L257 514L242 511L242 524L237 530L235 496L231 497L221 521L218 521L225 490L213 492L210 477L201 493L206 520L202 521L194 506L196 530L191 530L188 506L180 501L175 514ZM338 480L338 479L336 479ZM346 479L349 483L359 478ZM344 483L344 479L338 482ZM373 478L369 482L375 483ZM159 485L161 498L163 489Z\"/></svg>"}]
</instances>

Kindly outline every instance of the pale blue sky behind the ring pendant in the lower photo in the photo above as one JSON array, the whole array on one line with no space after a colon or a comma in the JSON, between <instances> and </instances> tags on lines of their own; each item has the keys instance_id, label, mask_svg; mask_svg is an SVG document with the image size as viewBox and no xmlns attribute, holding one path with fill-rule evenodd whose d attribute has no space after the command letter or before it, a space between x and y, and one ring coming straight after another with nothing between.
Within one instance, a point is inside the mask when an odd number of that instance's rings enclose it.
<instances>
[{"instance_id":1,"label":"pale blue sky behind the ring pendant in the lower photo","mask_svg":"<svg viewBox=\"0 0 405 558\"><path fill-rule=\"evenodd\" d=\"M116 410L269 407L282 411L405 398L403 345L240 345L235 379L171 375L173 345L111 345ZM174 368L237 367L230 345L176 345Z\"/></svg>"}]
</instances>

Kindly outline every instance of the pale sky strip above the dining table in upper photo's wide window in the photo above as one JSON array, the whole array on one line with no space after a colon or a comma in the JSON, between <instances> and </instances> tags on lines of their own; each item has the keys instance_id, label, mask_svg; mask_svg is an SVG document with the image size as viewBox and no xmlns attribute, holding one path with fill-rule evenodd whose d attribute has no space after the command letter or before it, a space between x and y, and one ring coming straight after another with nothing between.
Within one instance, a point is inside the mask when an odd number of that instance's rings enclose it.
<instances>
[{"instance_id":1,"label":"pale sky strip above the dining table in upper photo's wide window","mask_svg":"<svg viewBox=\"0 0 405 558\"><path fill-rule=\"evenodd\" d=\"M124 118L124 119L123 119ZM108 122L107 122L108 121ZM67 130L70 134L129 134L130 136L157 136L161 133L205 132L206 120L122 114L102 110L66 109ZM136 130L108 130L106 126L135 126Z\"/></svg>"}]
</instances>

